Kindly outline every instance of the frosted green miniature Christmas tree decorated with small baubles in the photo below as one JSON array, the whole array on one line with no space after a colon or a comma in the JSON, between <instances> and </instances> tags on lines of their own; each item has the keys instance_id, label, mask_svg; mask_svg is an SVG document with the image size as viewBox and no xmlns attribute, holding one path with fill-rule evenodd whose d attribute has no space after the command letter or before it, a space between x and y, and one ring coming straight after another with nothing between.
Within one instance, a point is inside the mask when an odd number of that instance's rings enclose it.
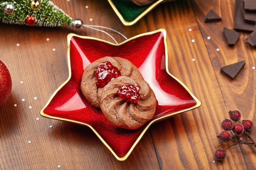
<instances>
[{"instance_id":1,"label":"frosted green miniature Christmas tree decorated with small baubles","mask_svg":"<svg viewBox=\"0 0 256 170\"><path fill-rule=\"evenodd\" d=\"M0 0L0 22L29 26L70 26L72 18L49 0Z\"/></svg>"}]
</instances>

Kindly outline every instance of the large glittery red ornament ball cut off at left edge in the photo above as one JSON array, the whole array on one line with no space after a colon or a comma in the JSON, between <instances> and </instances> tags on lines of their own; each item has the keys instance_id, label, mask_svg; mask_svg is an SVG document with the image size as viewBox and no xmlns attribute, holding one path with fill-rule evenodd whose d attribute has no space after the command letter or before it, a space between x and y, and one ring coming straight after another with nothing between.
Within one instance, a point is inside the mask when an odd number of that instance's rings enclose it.
<instances>
[{"instance_id":1,"label":"large glittery red ornament ball cut off at left edge","mask_svg":"<svg viewBox=\"0 0 256 170\"><path fill-rule=\"evenodd\" d=\"M8 68L0 60L0 107L7 101L11 93L11 75Z\"/></svg>"}]
</instances>

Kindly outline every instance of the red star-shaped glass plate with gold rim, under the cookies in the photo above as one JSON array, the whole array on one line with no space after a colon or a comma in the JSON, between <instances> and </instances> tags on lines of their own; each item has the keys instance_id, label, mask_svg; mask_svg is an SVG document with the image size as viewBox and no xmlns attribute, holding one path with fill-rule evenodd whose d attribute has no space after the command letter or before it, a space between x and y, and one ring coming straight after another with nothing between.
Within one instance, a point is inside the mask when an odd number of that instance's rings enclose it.
<instances>
[{"instance_id":1,"label":"red star-shaped glass plate with gold rim, under the cookies","mask_svg":"<svg viewBox=\"0 0 256 170\"><path fill-rule=\"evenodd\" d=\"M88 126L120 161L127 159L152 124L201 105L200 100L168 71L164 29L137 35L120 44L75 34L69 34L67 39L69 77L50 97L40 114ZM116 128L81 93L81 76L85 67L104 56L130 60L157 97L153 119L139 129Z\"/></svg>"}]
</instances>

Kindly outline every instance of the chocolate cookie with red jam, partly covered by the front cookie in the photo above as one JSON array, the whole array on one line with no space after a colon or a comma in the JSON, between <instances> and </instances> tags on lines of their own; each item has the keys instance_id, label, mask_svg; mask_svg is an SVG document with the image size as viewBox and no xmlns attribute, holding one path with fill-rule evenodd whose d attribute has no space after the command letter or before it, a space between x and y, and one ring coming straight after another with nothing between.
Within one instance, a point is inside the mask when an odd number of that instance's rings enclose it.
<instances>
[{"instance_id":1,"label":"chocolate cookie with red jam, partly covered by the front cookie","mask_svg":"<svg viewBox=\"0 0 256 170\"><path fill-rule=\"evenodd\" d=\"M101 90L119 76L142 79L139 69L121 57L103 57L89 64L82 75L81 92L92 106L99 108Z\"/></svg>"}]
</instances>

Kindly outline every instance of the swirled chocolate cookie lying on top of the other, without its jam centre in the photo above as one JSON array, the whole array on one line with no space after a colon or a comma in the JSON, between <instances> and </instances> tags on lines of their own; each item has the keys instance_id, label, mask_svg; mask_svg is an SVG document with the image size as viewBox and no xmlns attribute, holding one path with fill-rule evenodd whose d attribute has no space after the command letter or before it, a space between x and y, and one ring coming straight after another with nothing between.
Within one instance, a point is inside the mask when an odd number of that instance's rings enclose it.
<instances>
[{"instance_id":1,"label":"swirled chocolate cookie lying on top of the other, without its jam centre","mask_svg":"<svg viewBox=\"0 0 256 170\"><path fill-rule=\"evenodd\" d=\"M127 102L117 95L124 85L138 86L140 99ZM137 129L151 120L155 114L157 100L153 90L143 79L120 76L102 89L100 107L111 124L126 129Z\"/></svg>"}]
</instances>

